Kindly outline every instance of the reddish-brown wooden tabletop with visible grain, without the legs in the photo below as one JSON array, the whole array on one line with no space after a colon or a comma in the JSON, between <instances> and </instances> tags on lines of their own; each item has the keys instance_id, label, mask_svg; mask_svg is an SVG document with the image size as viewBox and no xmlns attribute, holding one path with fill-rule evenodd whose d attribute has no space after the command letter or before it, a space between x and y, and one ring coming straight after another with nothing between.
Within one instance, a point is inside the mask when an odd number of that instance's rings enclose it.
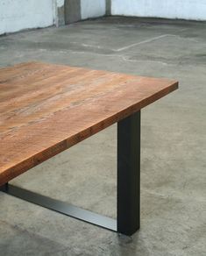
<instances>
[{"instance_id":1,"label":"reddish-brown wooden tabletop with visible grain, without the legs","mask_svg":"<svg viewBox=\"0 0 206 256\"><path fill-rule=\"evenodd\" d=\"M0 185L178 88L40 62L0 69Z\"/></svg>"}]
</instances>

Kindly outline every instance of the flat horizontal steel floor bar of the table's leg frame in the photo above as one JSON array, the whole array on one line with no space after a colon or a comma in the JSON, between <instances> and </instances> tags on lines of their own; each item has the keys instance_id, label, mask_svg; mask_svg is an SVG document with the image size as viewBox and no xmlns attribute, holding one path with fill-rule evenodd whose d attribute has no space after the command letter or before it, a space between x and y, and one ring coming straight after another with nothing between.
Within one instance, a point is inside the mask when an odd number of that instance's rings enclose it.
<instances>
[{"instance_id":1,"label":"flat horizontal steel floor bar of the table's leg frame","mask_svg":"<svg viewBox=\"0 0 206 256\"><path fill-rule=\"evenodd\" d=\"M83 210L72 204L64 203L47 196L41 196L37 193L26 190L25 188L18 188L11 184L4 185L4 187L1 187L1 190L11 196L16 196L30 203L35 203L50 210L58 211L69 217L75 217L90 224L101 226L110 231L117 231L117 221L113 218L104 217L89 210Z\"/></svg>"}]
</instances>

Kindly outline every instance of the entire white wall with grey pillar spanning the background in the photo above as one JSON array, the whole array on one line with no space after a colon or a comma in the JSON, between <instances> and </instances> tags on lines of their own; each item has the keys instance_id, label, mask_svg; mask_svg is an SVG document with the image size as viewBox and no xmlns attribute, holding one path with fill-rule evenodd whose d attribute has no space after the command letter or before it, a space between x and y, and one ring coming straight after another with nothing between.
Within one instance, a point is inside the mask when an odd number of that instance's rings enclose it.
<instances>
[{"instance_id":1,"label":"entire white wall with grey pillar spanning the background","mask_svg":"<svg viewBox=\"0 0 206 256\"><path fill-rule=\"evenodd\" d=\"M206 0L0 0L0 34L64 25L105 13L206 20Z\"/></svg>"}]
</instances>

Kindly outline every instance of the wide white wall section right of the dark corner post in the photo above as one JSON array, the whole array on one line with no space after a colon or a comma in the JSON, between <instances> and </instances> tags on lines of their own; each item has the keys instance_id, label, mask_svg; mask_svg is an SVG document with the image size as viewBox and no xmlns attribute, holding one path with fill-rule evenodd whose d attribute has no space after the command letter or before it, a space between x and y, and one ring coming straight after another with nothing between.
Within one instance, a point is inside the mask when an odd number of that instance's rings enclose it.
<instances>
[{"instance_id":1,"label":"wide white wall section right of the dark corner post","mask_svg":"<svg viewBox=\"0 0 206 256\"><path fill-rule=\"evenodd\" d=\"M206 20L206 0L111 0L111 14Z\"/></svg>"}]
</instances>

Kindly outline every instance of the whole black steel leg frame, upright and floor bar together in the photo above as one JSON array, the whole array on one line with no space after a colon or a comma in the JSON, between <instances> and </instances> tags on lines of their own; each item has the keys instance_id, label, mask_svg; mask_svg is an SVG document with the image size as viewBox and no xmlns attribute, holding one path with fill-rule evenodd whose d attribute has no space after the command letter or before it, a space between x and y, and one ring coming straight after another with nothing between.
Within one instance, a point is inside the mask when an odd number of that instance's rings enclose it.
<instances>
[{"instance_id":1,"label":"whole black steel leg frame, upright and floor bar together","mask_svg":"<svg viewBox=\"0 0 206 256\"><path fill-rule=\"evenodd\" d=\"M0 187L11 196L96 224L111 231L132 235L139 229L140 111L117 124L117 220L69 203L42 196L6 183Z\"/></svg>"}]
</instances>

